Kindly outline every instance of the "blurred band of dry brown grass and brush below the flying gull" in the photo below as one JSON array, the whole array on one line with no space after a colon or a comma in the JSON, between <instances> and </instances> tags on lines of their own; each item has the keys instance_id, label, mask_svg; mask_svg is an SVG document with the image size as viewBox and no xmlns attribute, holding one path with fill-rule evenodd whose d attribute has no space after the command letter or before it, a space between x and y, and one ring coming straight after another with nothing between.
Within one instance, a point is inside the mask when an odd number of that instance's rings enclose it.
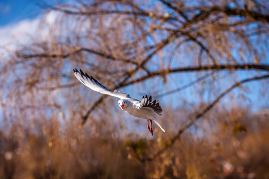
<instances>
[{"instance_id":1,"label":"blurred band of dry brown grass and brush below the flying gull","mask_svg":"<svg viewBox=\"0 0 269 179\"><path fill-rule=\"evenodd\" d=\"M153 161L145 161L145 158L166 145L167 136L115 139L106 134L92 137L86 129L75 133L69 129L47 133L25 130L19 137L15 129L3 130L0 133L0 178L267 179L268 116L248 114L243 119L241 115L235 117L238 111L242 109L230 114L219 113L219 116L233 116L247 131L235 134L234 123L227 122L229 118L213 117L214 130L206 129L203 136L187 131Z\"/></svg>"}]
</instances>

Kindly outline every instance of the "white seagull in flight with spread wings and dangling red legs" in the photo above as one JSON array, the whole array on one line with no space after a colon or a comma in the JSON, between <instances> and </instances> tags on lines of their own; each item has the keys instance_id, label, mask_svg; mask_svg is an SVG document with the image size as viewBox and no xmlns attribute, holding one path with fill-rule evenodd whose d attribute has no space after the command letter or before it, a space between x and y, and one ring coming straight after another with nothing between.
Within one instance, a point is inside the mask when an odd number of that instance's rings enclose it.
<instances>
[{"instance_id":1,"label":"white seagull in flight with spread wings and dangling red legs","mask_svg":"<svg viewBox=\"0 0 269 179\"><path fill-rule=\"evenodd\" d=\"M97 80L89 76L87 73L84 73L82 70L78 71L77 69L73 69L73 71L77 79L86 87L102 94L120 98L118 105L127 114L138 118L147 119L147 127L151 135L153 135L152 121L154 121L162 129L162 131L165 132L164 128L159 124L157 120L157 114L162 117L161 113L163 109L159 103L156 103L156 99L152 102L152 97L148 97L148 95L146 95L145 97L142 97L141 101L139 101L137 99L131 98L129 94L126 94L126 92L124 93L118 90L114 90L112 92L102 86L99 82L97 82Z\"/></svg>"}]
</instances>

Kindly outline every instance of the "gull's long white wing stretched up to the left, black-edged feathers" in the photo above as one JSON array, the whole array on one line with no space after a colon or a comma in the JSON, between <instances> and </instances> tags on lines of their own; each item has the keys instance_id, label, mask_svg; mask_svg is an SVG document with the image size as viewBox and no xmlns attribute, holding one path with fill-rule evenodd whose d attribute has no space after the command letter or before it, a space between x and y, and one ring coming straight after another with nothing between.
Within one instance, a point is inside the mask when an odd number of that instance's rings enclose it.
<instances>
[{"instance_id":1,"label":"gull's long white wing stretched up to the left, black-edged feathers","mask_svg":"<svg viewBox=\"0 0 269 179\"><path fill-rule=\"evenodd\" d=\"M77 79L86 87L100 92L102 94L107 94L107 95L111 95L111 96L115 96L118 97L120 99L126 99L129 100L131 102L137 102L139 100L137 99L133 99L130 97L129 94L114 90L113 92L106 89L104 86L102 86L99 82L97 82L97 80L95 80L94 78L92 78L91 76L89 76L87 73L84 73L82 70L80 70L80 72L77 69L73 69L75 76L77 77Z\"/></svg>"}]
</instances>

